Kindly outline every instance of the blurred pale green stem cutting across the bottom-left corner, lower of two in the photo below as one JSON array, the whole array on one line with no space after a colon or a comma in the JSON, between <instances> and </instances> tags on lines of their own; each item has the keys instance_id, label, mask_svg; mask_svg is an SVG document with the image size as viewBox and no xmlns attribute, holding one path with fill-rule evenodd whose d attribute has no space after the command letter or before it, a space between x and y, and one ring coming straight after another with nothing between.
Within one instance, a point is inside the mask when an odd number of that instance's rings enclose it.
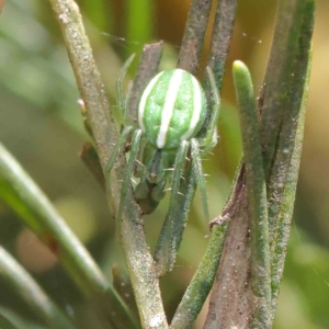
<instances>
[{"instance_id":1,"label":"blurred pale green stem cutting across the bottom-left corner, lower of two","mask_svg":"<svg viewBox=\"0 0 329 329\"><path fill-rule=\"evenodd\" d=\"M2 247L0 247L0 280L25 302L47 328L75 328L32 276Z\"/></svg>"}]
</instances>

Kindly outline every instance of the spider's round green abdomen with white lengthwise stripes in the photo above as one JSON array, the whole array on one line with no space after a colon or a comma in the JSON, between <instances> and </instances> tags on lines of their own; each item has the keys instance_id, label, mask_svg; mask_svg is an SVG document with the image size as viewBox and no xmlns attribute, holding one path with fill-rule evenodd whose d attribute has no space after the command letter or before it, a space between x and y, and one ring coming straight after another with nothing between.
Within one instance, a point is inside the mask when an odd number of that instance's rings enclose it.
<instances>
[{"instance_id":1,"label":"spider's round green abdomen with white lengthwise stripes","mask_svg":"<svg viewBox=\"0 0 329 329\"><path fill-rule=\"evenodd\" d=\"M147 84L138 106L138 124L159 149L177 148L200 131L206 100L198 81L181 69L164 70Z\"/></svg>"}]
</instances>

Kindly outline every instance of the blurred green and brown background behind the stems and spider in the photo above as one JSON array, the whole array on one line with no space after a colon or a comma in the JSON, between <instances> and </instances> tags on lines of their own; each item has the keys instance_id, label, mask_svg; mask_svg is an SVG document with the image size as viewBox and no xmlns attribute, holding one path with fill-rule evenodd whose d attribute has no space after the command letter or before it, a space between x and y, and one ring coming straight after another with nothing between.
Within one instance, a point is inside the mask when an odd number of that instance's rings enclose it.
<instances>
[{"instance_id":1,"label":"blurred green and brown background behind the stems and spider","mask_svg":"<svg viewBox=\"0 0 329 329\"><path fill-rule=\"evenodd\" d=\"M116 111L114 83L123 61L140 55L144 43L164 39L161 68L174 67L190 0L79 0L97 63ZM220 140L204 161L211 215L219 214L240 159L231 63L249 66L256 91L264 76L275 18L274 0L240 1L224 81L218 123ZM214 13L213 13L214 16ZM297 201L275 321L277 329L329 328L329 1L317 1L314 63L306 117ZM211 25L211 24L209 24ZM109 219L105 197L79 159L83 132L79 93L48 1L7 0L0 15L0 139L54 202L69 226L111 277L112 265L125 262ZM211 30L207 32L204 67ZM135 60L135 67L138 60ZM132 76L134 68L132 68ZM155 247L167 201L145 217ZM88 306L56 259L0 202L0 241L81 328L95 328ZM207 243L201 197L196 194L179 259L161 280L171 317ZM30 315L0 283L0 310ZM131 298L127 295L127 298ZM195 328L202 328L206 307ZM32 327L31 327L32 328ZM35 325L36 328L36 325Z\"/></svg>"}]
</instances>

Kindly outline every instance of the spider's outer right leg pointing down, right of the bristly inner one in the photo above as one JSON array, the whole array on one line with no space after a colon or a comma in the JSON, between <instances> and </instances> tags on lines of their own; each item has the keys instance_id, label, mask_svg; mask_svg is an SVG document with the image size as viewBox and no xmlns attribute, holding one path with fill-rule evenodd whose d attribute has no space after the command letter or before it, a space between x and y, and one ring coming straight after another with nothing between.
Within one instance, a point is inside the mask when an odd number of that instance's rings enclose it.
<instances>
[{"instance_id":1,"label":"spider's outer right leg pointing down, right of the bristly inner one","mask_svg":"<svg viewBox=\"0 0 329 329\"><path fill-rule=\"evenodd\" d=\"M203 211L206 217L207 223L209 223L209 211L208 211L208 200L205 188L205 179L202 170L201 163L201 152L198 147L198 141L195 138L191 139L191 157L192 157L192 166L193 171L196 178L197 185L200 186L201 197L203 203Z\"/></svg>"}]
</instances>

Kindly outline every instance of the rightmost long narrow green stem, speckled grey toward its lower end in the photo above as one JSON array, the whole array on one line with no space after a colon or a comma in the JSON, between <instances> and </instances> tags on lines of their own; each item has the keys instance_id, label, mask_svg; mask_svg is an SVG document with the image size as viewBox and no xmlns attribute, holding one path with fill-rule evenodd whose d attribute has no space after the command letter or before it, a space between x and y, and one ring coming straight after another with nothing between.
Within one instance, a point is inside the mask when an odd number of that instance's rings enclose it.
<instances>
[{"instance_id":1,"label":"rightmost long narrow green stem, speckled grey toward its lower end","mask_svg":"<svg viewBox=\"0 0 329 329\"><path fill-rule=\"evenodd\" d=\"M293 205L296 194L296 185L298 180L299 162L303 146L303 135L304 135L304 122L306 113L306 102L308 97L308 83L310 76L311 66L311 33L314 26L314 13L315 13L315 1L308 0L305 7L305 19L304 29L302 30L299 37L299 55L296 61L295 75L298 80L294 80L292 97L294 101L292 105L298 106L298 113L287 120L286 123L292 127L291 135L283 134L284 147L287 147L291 154L290 167L286 172L286 180L284 184L284 190L282 191L282 202L280 204L280 209L277 213L277 228L274 239L272 241L272 321L274 319L277 296L280 291L280 284L283 275L284 260L286 256L286 248L290 238L291 223L293 217ZM297 88L298 87L298 88ZM302 94L303 93L303 94ZM302 98L302 100L300 100ZM296 109L293 106L292 109ZM296 128L295 123L296 121ZM286 129L283 128L283 132ZM294 138L294 139L293 139ZM290 140L292 145L287 145L286 141Z\"/></svg>"}]
</instances>

